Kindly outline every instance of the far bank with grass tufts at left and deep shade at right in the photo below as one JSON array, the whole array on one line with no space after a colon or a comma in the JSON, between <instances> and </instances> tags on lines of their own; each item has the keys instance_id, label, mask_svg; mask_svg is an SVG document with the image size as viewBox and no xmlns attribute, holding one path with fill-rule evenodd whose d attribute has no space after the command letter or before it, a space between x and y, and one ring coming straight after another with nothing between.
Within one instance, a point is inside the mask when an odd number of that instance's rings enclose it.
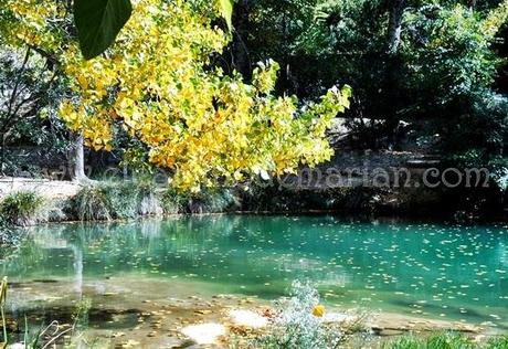
<instances>
[{"instance_id":1,"label":"far bank with grass tufts at left and deep shade at right","mask_svg":"<svg viewBox=\"0 0 508 349\"><path fill-rule=\"evenodd\" d=\"M348 169L360 166L363 172L347 174ZM366 160L369 159L369 160ZM390 159L388 161L387 159ZM44 222L125 220L172 214L204 213L262 213L262 214L338 214L343 216L398 216L456 222L506 221L506 211L496 200L495 189L474 190L422 188L422 172L434 162L415 160L408 154L399 156L369 155L346 158L318 168L309 174L289 176L277 182L256 183L250 187L216 188L201 193L178 193L167 184L152 180L128 181L52 181L46 179L0 179L0 202L19 192L32 193L43 200L38 212L8 215L22 225ZM384 161L384 162L383 162ZM387 162L388 161L388 162ZM337 163L336 163L337 162ZM375 169L413 163L408 187L370 186L375 180ZM416 166L417 165L417 166ZM378 169L379 169L378 168ZM334 169L347 182L340 186ZM316 173L326 173L316 177ZM346 174L345 174L346 173ZM362 174L363 173L363 174ZM393 174L393 171L392 171ZM314 176L314 177L313 177ZM389 182L393 178L387 179ZM393 184L393 183L392 183ZM15 200L14 200L15 201ZM462 205L466 201L467 205ZM24 216L23 216L24 214Z\"/></svg>"}]
</instances>

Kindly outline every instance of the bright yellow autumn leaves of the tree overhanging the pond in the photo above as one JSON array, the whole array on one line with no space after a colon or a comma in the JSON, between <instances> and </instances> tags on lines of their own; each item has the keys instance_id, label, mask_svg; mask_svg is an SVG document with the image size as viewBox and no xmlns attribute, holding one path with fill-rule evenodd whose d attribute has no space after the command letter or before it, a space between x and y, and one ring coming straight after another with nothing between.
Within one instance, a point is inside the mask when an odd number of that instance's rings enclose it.
<instances>
[{"instance_id":1,"label":"bright yellow autumn leaves of the tree overhanging the pond","mask_svg":"<svg viewBox=\"0 0 508 349\"><path fill-rule=\"evenodd\" d=\"M332 150L326 130L349 105L350 89L331 88L298 107L274 96L278 65L260 64L247 84L211 64L230 35L214 27L220 3L138 0L117 43L85 61L65 2L7 0L4 40L57 62L70 94L60 107L68 127L95 150L110 150L118 125L149 149L149 161L173 171L173 184L198 191L216 179L293 172Z\"/></svg>"}]
</instances>

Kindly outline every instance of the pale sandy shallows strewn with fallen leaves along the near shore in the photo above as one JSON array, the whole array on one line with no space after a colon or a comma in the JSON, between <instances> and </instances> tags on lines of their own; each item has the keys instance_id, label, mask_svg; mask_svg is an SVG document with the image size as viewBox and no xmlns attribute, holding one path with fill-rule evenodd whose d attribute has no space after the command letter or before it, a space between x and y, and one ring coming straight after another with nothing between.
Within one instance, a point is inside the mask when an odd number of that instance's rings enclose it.
<instances>
[{"instance_id":1,"label":"pale sandy shallows strewn with fallen leaves along the near shore","mask_svg":"<svg viewBox=\"0 0 508 349\"><path fill-rule=\"evenodd\" d=\"M76 282L78 282L76 284ZM203 293L195 282L107 277L104 279L34 279L11 284L9 308L28 314L29 321L57 320L71 326L73 309L88 299L88 327L83 340L114 348L181 348L194 345L234 347L262 335L274 314L272 303L241 294ZM70 292L72 290L72 292ZM358 309L326 307L329 321L352 328L345 346L380 348L413 334L456 331L484 340L500 331L462 321L434 320L401 314L361 314ZM361 319L357 322L357 318ZM335 320L334 320L335 319ZM21 319L19 319L21 320ZM354 322L354 327L348 325ZM208 326L208 327L207 327ZM205 329L201 332L200 328ZM214 332L215 330L215 332Z\"/></svg>"}]
</instances>

